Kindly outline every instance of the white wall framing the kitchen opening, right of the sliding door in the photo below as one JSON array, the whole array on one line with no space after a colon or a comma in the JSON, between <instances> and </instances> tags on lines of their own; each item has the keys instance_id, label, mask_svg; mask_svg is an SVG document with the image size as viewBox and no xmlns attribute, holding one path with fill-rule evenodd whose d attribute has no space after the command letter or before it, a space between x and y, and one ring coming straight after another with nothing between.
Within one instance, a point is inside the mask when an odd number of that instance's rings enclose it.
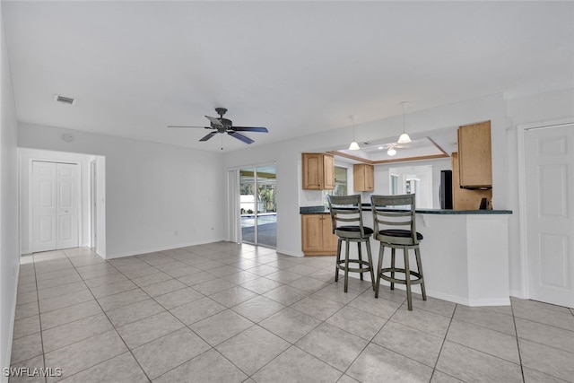
<instances>
[{"instance_id":1,"label":"white wall framing the kitchen opening, right of the sliding door","mask_svg":"<svg viewBox=\"0 0 574 383\"><path fill-rule=\"evenodd\" d=\"M427 132L445 127L462 126L491 120L492 178L496 209L506 209L508 158L506 152L506 103L501 94L422 110L409 115L409 133ZM269 126L273 130L273 126ZM373 121L356 126L361 141L396 137L402 131L402 116ZM321 192L301 190L301 152L322 152L341 149L349 143L352 127L307 135L281 143L254 146L239 152L224 154L225 167L232 168L265 161L277 163L277 250L284 254L302 256L300 234L300 205L320 205ZM449 169L450 166L445 169ZM377 175L375 176L377 177ZM377 182L377 181L376 181Z\"/></svg>"}]
</instances>

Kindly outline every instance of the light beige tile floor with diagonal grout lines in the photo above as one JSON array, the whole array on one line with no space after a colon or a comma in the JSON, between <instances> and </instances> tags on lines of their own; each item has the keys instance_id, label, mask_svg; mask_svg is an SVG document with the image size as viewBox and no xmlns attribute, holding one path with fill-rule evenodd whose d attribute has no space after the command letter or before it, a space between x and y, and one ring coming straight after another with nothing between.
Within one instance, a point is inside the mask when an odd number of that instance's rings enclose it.
<instances>
[{"instance_id":1,"label":"light beige tile floor with diagonal grout lines","mask_svg":"<svg viewBox=\"0 0 574 383\"><path fill-rule=\"evenodd\" d=\"M400 290L344 293L334 269L229 242L22 257L12 364L61 368L48 382L574 381L571 309L417 295L409 312Z\"/></svg>"}]
</instances>

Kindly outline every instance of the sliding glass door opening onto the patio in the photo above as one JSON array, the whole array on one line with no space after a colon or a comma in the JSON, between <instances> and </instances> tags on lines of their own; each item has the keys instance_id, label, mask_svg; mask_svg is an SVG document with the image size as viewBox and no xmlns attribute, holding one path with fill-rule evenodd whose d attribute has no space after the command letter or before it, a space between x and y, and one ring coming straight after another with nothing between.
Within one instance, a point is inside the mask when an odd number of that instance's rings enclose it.
<instances>
[{"instance_id":1,"label":"sliding glass door opening onto the patio","mask_svg":"<svg viewBox=\"0 0 574 383\"><path fill-rule=\"evenodd\" d=\"M276 167L239 169L241 241L277 247Z\"/></svg>"}]
</instances>

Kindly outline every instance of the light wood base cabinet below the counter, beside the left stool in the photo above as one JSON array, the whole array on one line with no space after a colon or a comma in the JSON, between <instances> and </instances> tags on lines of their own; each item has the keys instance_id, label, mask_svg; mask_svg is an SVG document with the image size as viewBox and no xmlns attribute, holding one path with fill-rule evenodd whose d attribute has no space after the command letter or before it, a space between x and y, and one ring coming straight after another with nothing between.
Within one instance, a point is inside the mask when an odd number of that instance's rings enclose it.
<instances>
[{"instance_id":1,"label":"light wood base cabinet below the counter, beside the left stool","mask_svg":"<svg viewBox=\"0 0 574 383\"><path fill-rule=\"evenodd\" d=\"M337 236L333 234L330 214L302 214L301 239L306 256L337 254Z\"/></svg>"}]
</instances>

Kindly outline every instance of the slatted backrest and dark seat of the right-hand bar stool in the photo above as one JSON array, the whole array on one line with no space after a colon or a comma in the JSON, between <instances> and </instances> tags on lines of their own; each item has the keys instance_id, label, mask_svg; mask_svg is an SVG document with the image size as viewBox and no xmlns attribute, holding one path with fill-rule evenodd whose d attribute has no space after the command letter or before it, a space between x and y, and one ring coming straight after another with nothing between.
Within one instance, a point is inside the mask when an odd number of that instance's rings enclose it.
<instances>
[{"instance_id":1,"label":"slatted backrest and dark seat of the right-hand bar stool","mask_svg":"<svg viewBox=\"0 0 574 383\"><path fill-rule=\"evenodd\" d=\"M416 233L414 194L370 196L375 239L381 242L413 246ZM386 227L390 226L390 228Z\"/></svg>"}]
</instances>

